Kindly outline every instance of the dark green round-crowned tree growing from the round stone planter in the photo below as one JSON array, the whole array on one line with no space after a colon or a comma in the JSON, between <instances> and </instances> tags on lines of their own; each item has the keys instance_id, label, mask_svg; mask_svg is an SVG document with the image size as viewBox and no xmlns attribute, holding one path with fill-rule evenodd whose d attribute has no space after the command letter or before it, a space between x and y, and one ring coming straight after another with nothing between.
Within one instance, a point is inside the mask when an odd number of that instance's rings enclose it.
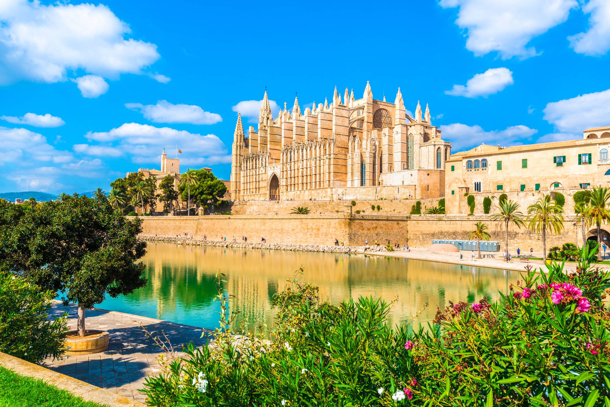
<instances>
[{"instance_id":1,"label":"dark green round-crowned tree growing from the round stone planter","mask_svg":"<svg viewBox=\"0 0 610 407\"><path fill-rule=\"evenodd\" d=\"M118 214L106 197L70 196L43 203L13 228L12 270L78 306L77 336L84 338L85 310L106 298L146 285L142 221ZM107 339L106 339L107 343Z\"/></svg>"}]
</instances>

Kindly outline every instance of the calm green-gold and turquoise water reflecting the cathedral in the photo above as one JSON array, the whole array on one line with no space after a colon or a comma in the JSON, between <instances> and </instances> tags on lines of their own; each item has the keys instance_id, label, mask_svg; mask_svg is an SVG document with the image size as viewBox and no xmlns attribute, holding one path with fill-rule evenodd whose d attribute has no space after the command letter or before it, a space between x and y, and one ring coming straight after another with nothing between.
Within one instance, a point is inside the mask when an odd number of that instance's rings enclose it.
<instances>
[{"instance_id":1,"label":"calm green-gold and turquoise water reflecting the cathedral","mask_svg":"<svg viewBox=\"0 0 610 407\"><path fill-rule=\"evenodd\" d=\"M263 320L273 325L270 308L273 294L284 289L287 279L303 265L302 281L320 287L322 300L337 304L346 298L373 295L386 301L397 299L390 319L405 323L428 307L415 323L434 319L437 305L448 301L473 301L487 295L498 298L498 290L519 278L519 272L437 262L364 256L362 254L309 253L183 246L149 242L146 264L148 285L133 294L107 298L99 308L129 314L215 328L220 304L215 273L226 274L224 287L235 295L231 308L239 319Z\"/></svg>"}]
</instances>

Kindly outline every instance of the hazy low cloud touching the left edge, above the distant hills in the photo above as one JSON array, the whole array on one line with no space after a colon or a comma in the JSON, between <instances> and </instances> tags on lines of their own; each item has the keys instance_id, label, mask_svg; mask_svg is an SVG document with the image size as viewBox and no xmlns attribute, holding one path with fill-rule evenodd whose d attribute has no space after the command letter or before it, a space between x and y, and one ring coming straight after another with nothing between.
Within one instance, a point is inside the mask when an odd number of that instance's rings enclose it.
<instances>
[{"instance_id":1,"label":"hazy low cloud touching the left edge, above the distant hills","mask_svg":"<svg viewBox=\"0 0 610 407\"><path fill-rule=\"evenodd\" d=\"M30 162L66 163L73 159L69 151L61 151L51 146L46 137L23 128L0 127L4 162L30 164Z\"/></svg>"}]
</instances>

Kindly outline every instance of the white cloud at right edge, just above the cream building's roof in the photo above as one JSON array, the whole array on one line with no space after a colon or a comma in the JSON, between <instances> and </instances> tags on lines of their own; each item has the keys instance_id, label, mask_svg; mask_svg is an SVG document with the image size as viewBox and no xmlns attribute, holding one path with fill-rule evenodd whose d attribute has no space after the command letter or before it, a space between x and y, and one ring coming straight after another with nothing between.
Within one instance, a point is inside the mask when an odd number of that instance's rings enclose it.
<instances>
[{"instance_id":1,"label":"white cloud at right edge, just above the cream building's roof","mask_svg":"<svg viewBox=\"0 0 610 407\"><path fill-rule=\"evenodd\" d=\"M544 120L561 132L578 134L592 127L608 126L610 89L548 103L543 112Z\"/></svg>"}]
</instances>

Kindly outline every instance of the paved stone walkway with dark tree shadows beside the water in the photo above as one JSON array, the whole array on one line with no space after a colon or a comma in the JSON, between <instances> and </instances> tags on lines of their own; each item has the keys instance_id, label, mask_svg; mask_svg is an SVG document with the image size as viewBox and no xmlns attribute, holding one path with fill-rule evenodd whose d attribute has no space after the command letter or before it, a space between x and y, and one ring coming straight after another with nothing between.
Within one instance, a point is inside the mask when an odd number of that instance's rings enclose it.
<instances>
[{"instance_id":1,"label":"paved stone walkway with dark tree shadows beside the water","mask_svg":"<svg viewBox=\"0 0 610 407\"><path fill-rule=\"evenodd\" d=\"M76 306L55 304L52 315L59 316L65 311L69 313L70 329L76 330ZM161 350L145 336L138 322L154 336L165 332L174 348L180 348L189 341L196 345L204 343L204 339L200 339L201 328L194 326L98 308L88 309L86 316L88 330L110 333L108 350L93 355L70 356L61 361L49 358L45 360L46 367L140 402L146 400L146 395L138 391L143 389L144 379L159 372L156 356Z\"/></svg>"}]
</instances>

